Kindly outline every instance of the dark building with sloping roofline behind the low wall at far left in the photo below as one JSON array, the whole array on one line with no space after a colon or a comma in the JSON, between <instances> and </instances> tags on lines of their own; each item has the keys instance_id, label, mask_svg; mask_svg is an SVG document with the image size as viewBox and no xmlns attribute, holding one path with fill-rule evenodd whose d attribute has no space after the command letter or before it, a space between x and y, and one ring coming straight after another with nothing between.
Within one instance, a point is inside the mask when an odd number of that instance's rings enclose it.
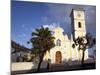
<instances>
[{"instance_id":1,"label":"dark building with sloping roofline behind the low wall at far left","mask_svg":"<svg viewBox=\"0 0 100 75\"><path fill-rule=\"evenodd\" d=\"M11 61L23 62L25 57L30 57L31 50L11 41Z\"/></svg>"}]
</instances>

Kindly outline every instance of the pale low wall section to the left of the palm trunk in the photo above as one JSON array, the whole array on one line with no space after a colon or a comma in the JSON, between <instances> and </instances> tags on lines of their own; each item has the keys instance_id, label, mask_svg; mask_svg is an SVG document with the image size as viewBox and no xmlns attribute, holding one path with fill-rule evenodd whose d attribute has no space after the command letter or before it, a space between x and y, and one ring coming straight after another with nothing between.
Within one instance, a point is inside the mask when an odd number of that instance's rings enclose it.
<instances>
[{"instance_id":1,"label":"pale low wall section to the left of the palm trunk","mask_svg":"<svg viewBox=\"0 0 100 75\"><path fill-rule=\"evenodd\" d=\"M33 62L16 62L11 64L12 71L31 70L33 68L37 68L37 65Z\"/></svg>"}]
</instances>

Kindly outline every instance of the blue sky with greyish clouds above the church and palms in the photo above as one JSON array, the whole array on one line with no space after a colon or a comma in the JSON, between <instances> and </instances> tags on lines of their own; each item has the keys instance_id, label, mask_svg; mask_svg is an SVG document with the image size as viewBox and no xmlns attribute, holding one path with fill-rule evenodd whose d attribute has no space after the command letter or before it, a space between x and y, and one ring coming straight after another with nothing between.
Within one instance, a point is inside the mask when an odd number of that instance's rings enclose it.
<instances>
[{"instance_id":1,"label":"blue sky with greyish clouds above the church and palms","mask_svg":"<svg viewBox=\"0 0 100 75\"><path fill-rule=\"evenodd\" d=\"M27 41L31 33L40 26L53 28L56 24L71 34L70 12L73 8L83 8L86 17L86 30L96 37L96 7L72 4L55 4L39 2L11 2L11 39L31 48Z\"/></svg>"}]
</instances>

